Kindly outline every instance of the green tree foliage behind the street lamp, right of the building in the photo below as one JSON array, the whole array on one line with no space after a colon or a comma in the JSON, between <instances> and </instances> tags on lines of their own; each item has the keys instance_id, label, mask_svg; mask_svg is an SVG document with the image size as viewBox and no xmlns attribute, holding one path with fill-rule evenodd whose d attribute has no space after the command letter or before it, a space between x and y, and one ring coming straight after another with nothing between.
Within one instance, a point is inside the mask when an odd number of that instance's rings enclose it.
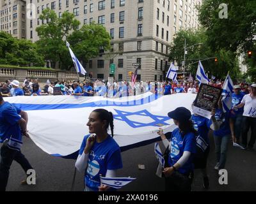
<instances>
[{"instance_id":1,"label":"green tree foliage behind the street lamp, right of the building","mask_svg":"<svg viewBox=\"0 0 256 204\"><path fill-rule=\"evenodd\" d=\"M184 60L185 38L186 50L188 51L188 54L186 55L186 71L191 72L192 75L195 76L198 61L201 60L209 78L211 78L212 75L217 78L225 78L228 71L232 78L239 77L236 54L225 49L220 49L218 51L212 50L208 44L208 36L203 29L198 31L193 31L191 29L187 31L180 30L176 33L173 43L170 46L170 61L176 61L179 66L182 66L182 61ZM199 43L202 44L196 45ZM213 58L208 59L210 57ZM217 62L214 62L214 57L218 59Z\"/></svg>"}]
</instances>

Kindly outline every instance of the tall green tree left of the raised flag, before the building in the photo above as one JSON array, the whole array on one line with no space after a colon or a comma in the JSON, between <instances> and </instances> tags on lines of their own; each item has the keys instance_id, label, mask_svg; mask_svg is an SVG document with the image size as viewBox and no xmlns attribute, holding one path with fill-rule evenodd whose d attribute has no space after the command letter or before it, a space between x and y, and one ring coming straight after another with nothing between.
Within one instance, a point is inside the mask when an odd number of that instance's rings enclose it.
<instances>
[{"instance_id":1,"label":"tall green tree left of the raised flag, before the building","mask_svg":"<svg viewBox=\"0 0 256 204\"><path fill-rule=\"evenodd\" d=\"M47 24L36 27L40 40L36 41L38 49L44 55L45 60L60 62L59 67L67 68L72 60L68 56L68 48L65 45L70 31L76 31L80 22L74 18L73 13L65 11L61 18L58 18L55 11L47 8L42 11L40 20L47 21Z\"/></svg>"}]
</instances>

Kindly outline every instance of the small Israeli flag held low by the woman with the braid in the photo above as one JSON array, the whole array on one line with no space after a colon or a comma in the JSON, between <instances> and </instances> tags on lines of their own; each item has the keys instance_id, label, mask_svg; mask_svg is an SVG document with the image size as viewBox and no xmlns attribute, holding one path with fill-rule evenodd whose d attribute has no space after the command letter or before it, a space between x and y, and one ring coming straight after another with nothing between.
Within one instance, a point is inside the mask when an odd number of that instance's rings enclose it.
<instances>
[{"instance_id":1,"label":"small Israeli flag held low by the woman with the braid","mask_svg":"<svg viewBox=\"0 0 256 204\"><path fill-rule=\"evenodd\" d=\"M109 187L120 189L135 179L136 178L131 177L100 177L100 182L101 184L107 185Z\"/></svg>"}]
</instances>

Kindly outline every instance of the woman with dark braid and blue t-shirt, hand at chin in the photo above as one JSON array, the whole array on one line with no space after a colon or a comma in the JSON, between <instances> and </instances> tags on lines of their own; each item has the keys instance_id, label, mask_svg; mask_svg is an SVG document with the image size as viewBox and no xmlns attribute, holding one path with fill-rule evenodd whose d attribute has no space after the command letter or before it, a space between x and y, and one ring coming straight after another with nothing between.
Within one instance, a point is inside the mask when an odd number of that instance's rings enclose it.
<instances>
[{"instance_id":1,"label":"woman with dark braid and blue t-shirt, hand at chin","mask_svg":"<svg viewBox=\"0 0 256 204\"><path fill-rule=\"evenodd\" d=\"M100 183L100 175L116 177L116 170L123 167L120 147L113 139L113 114L104 109L93 110L86 125L93 135L84 136L76 161L77 170L84 172L85 191L113 190Z\"/></svg>"}]
</instances>

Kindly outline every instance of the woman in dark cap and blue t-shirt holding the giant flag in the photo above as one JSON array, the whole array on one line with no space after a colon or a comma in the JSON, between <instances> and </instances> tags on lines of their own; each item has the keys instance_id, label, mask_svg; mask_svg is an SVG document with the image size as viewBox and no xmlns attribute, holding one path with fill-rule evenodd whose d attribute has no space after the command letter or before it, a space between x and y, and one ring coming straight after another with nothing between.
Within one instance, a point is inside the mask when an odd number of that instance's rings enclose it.
<instances>
[{"instance_id":1,"label":"woman in dark cap and blue t-shirt holding the giant flag","mask_svg":"<svg viewBox=\"0 0 256 204\"><path fill-rule=\"evenodd\" d=\"M193 155L196 153L196 131L190 120L191 113L187 108L179 107L168 113L176 128L172 132L170 142L163 134L163 129L157 132L163 140L168 153L168 167L163 170L165 191L191 191L193 180ZM166 133L168 135L168 133Z\"/></svg>"}]
</instances>

